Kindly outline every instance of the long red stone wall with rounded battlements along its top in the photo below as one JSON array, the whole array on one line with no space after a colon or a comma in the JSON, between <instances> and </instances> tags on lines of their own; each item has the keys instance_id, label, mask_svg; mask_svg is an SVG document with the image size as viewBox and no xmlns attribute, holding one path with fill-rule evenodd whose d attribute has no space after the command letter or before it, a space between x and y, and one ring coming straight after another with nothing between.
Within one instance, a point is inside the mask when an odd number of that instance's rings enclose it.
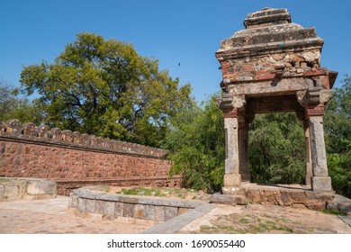
<instances>
[{"instance_id":1,"label":"long red stone wall with rounded battlements along its top","mask_svg":"<svg viewBox=\"0 0 351 252\"><path fill-rule=\"evenodd\" d=\"M92 184L176 186L166 150L70 130L0 121L0 176L54 180L58 194Z\"/></svg>"}]
</instances>

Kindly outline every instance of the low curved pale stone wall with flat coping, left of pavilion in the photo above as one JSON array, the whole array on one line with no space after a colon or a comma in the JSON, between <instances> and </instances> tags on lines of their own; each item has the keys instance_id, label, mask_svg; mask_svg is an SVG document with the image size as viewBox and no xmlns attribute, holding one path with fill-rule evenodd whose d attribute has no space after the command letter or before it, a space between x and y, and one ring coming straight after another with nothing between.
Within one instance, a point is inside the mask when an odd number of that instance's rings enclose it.
<instances>
[{"instance_id":1,"label":"low curved pale stone wall with flat coping, left of pavilion","mask_svg":"<svg viewBox=\"0 0 351 252\"><path fill-rule=\"evenodd\" d=\"M105 193L99 191L101 188L101 186L89 186L74 190L70 194L70 211L74 211L77 215L83 217L98 215L106 219L134 218L159 222L172 219L203 203Z\"/></svg>"}]
</instances>

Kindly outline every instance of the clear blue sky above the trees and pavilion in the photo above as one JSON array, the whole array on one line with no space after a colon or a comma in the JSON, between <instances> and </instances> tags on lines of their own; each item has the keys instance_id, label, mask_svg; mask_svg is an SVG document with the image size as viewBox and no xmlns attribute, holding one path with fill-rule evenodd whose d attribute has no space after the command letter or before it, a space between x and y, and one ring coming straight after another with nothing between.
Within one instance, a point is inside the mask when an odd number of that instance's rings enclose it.
<instances>
[{"instance_id":1,"label":"clear blue sky above the trees and pavilion","mask_svg":"<svg viewBox=\"0 0 351 252\"><path fill-rule=\"evenodd\" d=\"M190 82L197 101L220 90L220 40L244 29L248 13L287 8L293 23L316 27L325 40L322 67L339 72L337 86L351 75L349 0L1 0L0 79L19 86L23 65L49 63L76 40L94 32L128 41L142 56L159 59L160 69ZM178 66L178 63L181 63Z\"/></svg>"}]
</instances>

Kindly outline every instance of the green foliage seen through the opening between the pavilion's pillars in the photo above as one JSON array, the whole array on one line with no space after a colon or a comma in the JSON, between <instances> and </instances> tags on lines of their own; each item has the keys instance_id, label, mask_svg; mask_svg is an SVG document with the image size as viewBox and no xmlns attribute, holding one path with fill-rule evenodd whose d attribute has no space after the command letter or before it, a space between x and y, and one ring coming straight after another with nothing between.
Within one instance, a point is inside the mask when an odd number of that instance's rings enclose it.
<instances>
[{"instance_id":1,"label":"green foliage seen through the opening between the pavilion's pillars","mask_svg":"<svg viewBox=\"0 0 351 252\"><path fill-rule=\"evenodd\" d=\"M257 114L249 130L249 168L257 183L303 183L305 142L296 114Z\"/></svg>"}]
</instances>

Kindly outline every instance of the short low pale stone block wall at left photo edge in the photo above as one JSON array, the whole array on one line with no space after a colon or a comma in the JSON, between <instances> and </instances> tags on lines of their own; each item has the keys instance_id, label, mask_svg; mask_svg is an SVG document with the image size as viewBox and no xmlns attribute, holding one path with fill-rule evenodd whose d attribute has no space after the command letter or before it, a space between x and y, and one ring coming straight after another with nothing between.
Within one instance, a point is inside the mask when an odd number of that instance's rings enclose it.
<instances>
[{"instance_id":1,"label":"short low pale stone block wall at left photo edge","mask_svg":"<svg viewBox=\"0 0 351 252\"><path fill-rule=\"evenodd\" d=\"M56 183L44 179L0 177L0 202L55 198Z\"/></svg>"}]
</instances>

